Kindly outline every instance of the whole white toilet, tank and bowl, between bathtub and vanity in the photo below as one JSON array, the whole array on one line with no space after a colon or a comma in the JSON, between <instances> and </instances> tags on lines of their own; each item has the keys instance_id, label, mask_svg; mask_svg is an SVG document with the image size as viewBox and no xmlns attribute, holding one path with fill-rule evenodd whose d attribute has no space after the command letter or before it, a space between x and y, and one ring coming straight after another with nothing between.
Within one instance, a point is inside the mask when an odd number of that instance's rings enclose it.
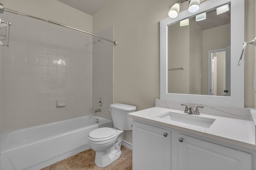
<instances>
[{"instance_id":1,"label":"whole white toilet, tank and bowl, between bathtub and vanity","mask_svg":"<svg viewBox=\"0 0 256 170\"><path fill-rule=\"evenodd\" d=\"M120 158L124 130L132 130L132 118L128 117L128 113L134 112L136 106L116 103L111 104L109 110L113 128L98 128L88 135L89 146L96 152L94 162L102 168Z\"/></svg>"}]
</instances>

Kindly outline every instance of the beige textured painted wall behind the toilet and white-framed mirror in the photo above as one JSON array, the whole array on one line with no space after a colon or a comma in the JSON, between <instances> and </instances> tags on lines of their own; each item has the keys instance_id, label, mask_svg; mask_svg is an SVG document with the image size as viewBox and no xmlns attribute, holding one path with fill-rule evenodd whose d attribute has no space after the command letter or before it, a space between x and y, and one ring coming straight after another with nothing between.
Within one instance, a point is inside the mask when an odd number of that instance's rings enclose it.
<instances>
[{"instance_id":1,"label":"beige textured painted wall behind the toilet and white-framed mirror","mask_svg":"<svg viewBox=\"0 0 256 170\"><path fill-rule=\"evenodd\" d=\"M154 107L160 98L160 26L175 0L114 0L93 16L93 31L114 25L114 103ZM255 37L254 0L245 0L245 40ZM241 47L242 48L242 47ZM254 107L254 47L245 55L245 107ZM132 132L125 133L132 142Z\"/></svg>"}]
</instances>

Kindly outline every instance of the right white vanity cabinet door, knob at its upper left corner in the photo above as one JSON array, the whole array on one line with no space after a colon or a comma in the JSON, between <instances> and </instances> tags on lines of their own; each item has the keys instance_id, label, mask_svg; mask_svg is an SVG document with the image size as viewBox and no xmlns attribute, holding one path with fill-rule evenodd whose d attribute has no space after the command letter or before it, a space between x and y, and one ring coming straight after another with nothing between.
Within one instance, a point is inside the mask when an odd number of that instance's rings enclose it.
<instances>
[{"instance_id":1,"label":"right white vanity cabinet door, knob at its upper left corner","mask_svg":"<svg viewBox=\"0 0 256 170\"><path fill-rule=\"evenodd\" d=\"M252 170L252 155L246 152L181 134L179 141L179 170Z\"/></svg>"}]
</instances>

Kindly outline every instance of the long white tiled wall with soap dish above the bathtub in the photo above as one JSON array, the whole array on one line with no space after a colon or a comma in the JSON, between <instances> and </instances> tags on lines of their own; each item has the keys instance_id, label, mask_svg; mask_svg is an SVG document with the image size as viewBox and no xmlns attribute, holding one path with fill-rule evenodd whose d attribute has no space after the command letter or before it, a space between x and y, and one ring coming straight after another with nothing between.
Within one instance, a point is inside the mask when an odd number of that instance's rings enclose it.
<instances>
[{"instance_id":1,"label":"long white tiled wall with soap dish above the bathtub","mask_svg":"<svg viewBox=\"0 0 256 170\"><path fill-rule=\"evenodd\" d=\"M91 114L92 37L15 14L0 17L12 23L10 47L0 51L0 133ZM56 107L62 99L67 106Z\"/></svg>"}]
</instances>

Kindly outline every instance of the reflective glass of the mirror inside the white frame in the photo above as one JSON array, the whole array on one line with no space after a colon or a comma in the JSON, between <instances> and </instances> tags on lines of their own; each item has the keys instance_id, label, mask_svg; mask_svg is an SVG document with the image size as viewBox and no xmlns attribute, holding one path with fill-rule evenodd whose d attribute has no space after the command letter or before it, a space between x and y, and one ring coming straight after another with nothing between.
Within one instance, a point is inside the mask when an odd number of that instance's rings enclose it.
<instances>
[{"instance_id":1,"label":"reflective glass of the mirror inside the white frame","mask_svg":"<svg viewBox=\"0 0 256 170\"><path fill-rule=\"evenodd\" d=\"M230 96L230 12L168 25L168 93Z\"/></svg>"}]
</instances>

